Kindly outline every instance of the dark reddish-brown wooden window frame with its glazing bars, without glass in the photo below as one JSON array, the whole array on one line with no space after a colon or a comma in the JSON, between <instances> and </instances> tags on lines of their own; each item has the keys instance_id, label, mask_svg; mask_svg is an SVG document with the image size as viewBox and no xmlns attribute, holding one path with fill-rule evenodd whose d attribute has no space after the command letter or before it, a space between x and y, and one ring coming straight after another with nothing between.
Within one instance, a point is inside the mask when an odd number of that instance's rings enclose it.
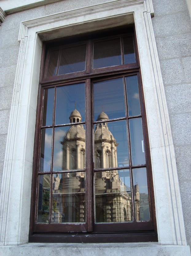
<instances>
[{"instance_id":1,"label":"dark reddish-brown wooden window frame with its glazing bars, without glass","mask_svg":"<svg viewBox=\"0 0 191 256\"><path fill-rule=\"evenodd\" d=\"M150 163L150 150L149 150L149 140L148 140L148 131L146 126L146 111L143 97L143 88L142 88L142 80L141 80L141 71L138 59L138 48L136 42L136 34L134 31L134 27L120 27L112 30L107 30L107 35L109 38L122 35L128 35L128 33L124 34L125 31L130 31L129 35L133 35L134 38L134 48L135 48L135 59L136 62L133 64L122 64L119 66L112 66L107 68L97 68L92 69L92 42L95 39L101 38L103 35L106 35L106 31L99 31L99 33L89 33L86 35L80 35L77 37L69 37L66 39L53 40L48 43L44 43L43 51L42 51L42 62L41 62L41 74L40 74L40 83L39 83L39 93L38 93L38 103L37 103L37 120L36 120L36 136L34 143L34 158L33 158L33 180L32 180L32 197L31 197L31 213L30 213L30 229L29 229L29 242L150 242L150 241L158 241L157 237L157 228L156 228L156 218L155 218L155 208L154 208L154 191L153 191L153 182L152 182L152 171L151 171L151 163ZM113 36L112 36L113 35ZM45 56L49 55L49 49L55 47L55 49L61 48L65 43L76 42L76 38L80 43L87 41L87 56L86 56L86 70L76 73L69 73L65 75L57 75L52 77L45 77L48 68L48 61L45 62ZM123 56L123 47L122 47L122 56ZM47 58L48 59L48 58ZM45 63L45 64L44 64ZM139 89L139 97L140 97L140 107L141 107L141 115L139 116L131 116L128 117L127 113L125 118L111 119L107 122L111 122L114 120L128 120L132 118L141 117L143 122L143 138L145 143L145 155L146 155L146 164L131 166L131 153L130 153L130 139L129 139L129 131L128 134L128 148L129 148L129 159L130 165L125 169L129 169L131 172L132 168L147 168L147 184L148 184L148 192L149 192L149 206L150 206L150 221L135 221L129 223L94 223L94 217L92 213L93 209L93 196L92 196L92 186L93 179L92 173L96 171L102 171L105 169L94 170L93 166L93 156L91 152L92 149L92 133L93 127L96 123L101 123L102 121L94 121L93 116L91 116L91 111L93 109L93 94L92 94L92 82L95 81L103 81L109 80L111 78L118 77L126 77L131 75L138 76L138 89ZM123 78L124 80L124 78ZM86 122L81 122L81 124L86 123L86 151L90 152L90 154L86 157L86 170L89 166L91 171L86 171L86 180L92 180L91 182L86 183L86 191L88 195L86 197L86 202L89 203L89 208L86 208L86 218L87 223L85 224L64 224L66 229L71 229L72 233L63 231L63 224L60 223L36 223L37 216L37 195L38 195L38 182L37 177L40 172L39 163L40 163L40 144L41 141L41 120L43 114L43 90L45 88L52 88L61 85L69 85L75 84L79 82L86 83ZM125 95L125 107L127 111L127 98ZM54 95L54 113L56 107L56 94ZM55 118L55 114L54 114ZM89 120L89 122L88 122ZM65 124L68 126L71 124ZM63 125L55 125L55 127L63 126ZM127 124L128 126L128 124ZM43 126L43 128L48 128L53 126ZM52 147L53 147L52 142ZM113 168L115 170L124 169L124 167ZM112 170L112 169L110 169ZM57 171L58 173L59 171ZM64 171L60 171L64 172ZM68 172L68 171L67 171ZM76 171L75 171L76 172ZM50 172L47 172L50 173ZM54 172L56 173L56 172ZM46 172L41 172L41 174L46 174ZM131 173L132 179L132 173ZM131 188L133 191L133 188ZM50 197L51 198L51 197ZM51 200L51 199L50 199ZM51 205L51 204L50 204ZM132 207L133 208L133 207ZM49 217L50 218L50 217ZM49 220L50 221L50 220ZM74 229L75 226L75 229ZM113 228L112 228L113 227ZM104 231L103 231L104 230ZM74 232L73 232L74 231ZM86 232L83 232L86 231Z\"/></svg>"}]
</instances>

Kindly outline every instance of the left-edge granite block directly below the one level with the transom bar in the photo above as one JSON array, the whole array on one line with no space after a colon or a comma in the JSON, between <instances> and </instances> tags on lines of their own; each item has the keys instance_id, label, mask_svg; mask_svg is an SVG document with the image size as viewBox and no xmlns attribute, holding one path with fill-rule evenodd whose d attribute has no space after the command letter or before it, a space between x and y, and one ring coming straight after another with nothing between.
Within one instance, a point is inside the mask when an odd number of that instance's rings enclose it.
<instances>
[{"instance_id":1,"label":"left-edge granite block directly below the one level with the transom bar","mask_svg":"<svg viewBox=\"0 0 191 256\"><path fill-rule=\"evenodd\" d=\"M0 109L10 109L13 95L13 87L2 87L0 88Z\"/></svg>"}]
</instances>

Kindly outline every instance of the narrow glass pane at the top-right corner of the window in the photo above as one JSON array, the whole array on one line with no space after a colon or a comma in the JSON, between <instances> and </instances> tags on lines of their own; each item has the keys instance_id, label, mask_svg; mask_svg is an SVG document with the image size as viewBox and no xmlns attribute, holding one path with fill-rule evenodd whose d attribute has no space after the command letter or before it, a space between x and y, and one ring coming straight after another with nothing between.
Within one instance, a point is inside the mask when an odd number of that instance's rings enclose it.
<instances>
[{"instance_id":1,"label":"narrow glass pane at the top-right corner of the window","mask_svg":"<svg viewBox=\"0 0 191 256\"><path fill-rule=\"evenodd\" d=\"M123 37L124 63L135 63L133 37Z\"/></svg>"}]
</instances>

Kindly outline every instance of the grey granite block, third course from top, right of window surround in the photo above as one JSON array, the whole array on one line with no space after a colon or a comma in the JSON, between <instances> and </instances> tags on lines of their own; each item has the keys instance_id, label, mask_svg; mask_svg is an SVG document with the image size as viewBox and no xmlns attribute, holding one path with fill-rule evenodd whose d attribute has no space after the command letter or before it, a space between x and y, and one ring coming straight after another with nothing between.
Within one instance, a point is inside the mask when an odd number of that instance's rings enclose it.
<instances>
[{"instance_id":1,"label":"grey granite block, third course from top, right of window surround","mask_svg":"<svg viewBox=\"0 0 191 256\"><path fill-rule=\"evenodd\" d=\"M156 38L159 59L178 58L191 55L191 34L180 34Z\"/></svg>"}]
</instances>

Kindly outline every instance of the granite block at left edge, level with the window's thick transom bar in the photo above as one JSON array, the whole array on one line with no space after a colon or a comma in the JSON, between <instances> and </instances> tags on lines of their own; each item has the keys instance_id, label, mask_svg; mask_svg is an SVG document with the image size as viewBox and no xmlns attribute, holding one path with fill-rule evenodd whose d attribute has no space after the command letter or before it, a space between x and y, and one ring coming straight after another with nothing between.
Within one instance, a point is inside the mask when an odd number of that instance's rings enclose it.
<instances>
[{"instance_id":1,"label":"granite block at left edge, level with the window's thick transom bar","mask_svg":"<svg viewBox=\"0 0 191 256\"><path fill-rule=\"evenodd\" d=\"M0 68L0 88L5 86L13 86L16 72L16 65Z\"/></svg>"}]
</instances>

